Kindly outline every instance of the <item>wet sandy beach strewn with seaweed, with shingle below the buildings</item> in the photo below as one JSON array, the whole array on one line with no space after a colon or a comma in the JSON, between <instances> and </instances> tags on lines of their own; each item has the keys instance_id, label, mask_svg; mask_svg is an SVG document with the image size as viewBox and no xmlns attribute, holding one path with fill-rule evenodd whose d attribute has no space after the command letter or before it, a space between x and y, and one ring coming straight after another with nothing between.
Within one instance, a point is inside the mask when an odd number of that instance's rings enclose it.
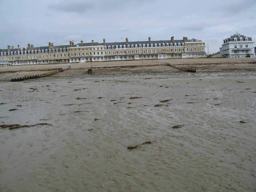
<instances>
[{"instance_id":1,"label":"wet sandy beach strewn with seaweed, with shingle below the buildings","mask_svg":"<svg viewBox=\"0 0 256 192\"><path fill-rule=\"evenodd\" d=\"M1 192L256 191L256 58L74 63L10 82L66 65L0 67Z\"/></svg>"}]
</instances>

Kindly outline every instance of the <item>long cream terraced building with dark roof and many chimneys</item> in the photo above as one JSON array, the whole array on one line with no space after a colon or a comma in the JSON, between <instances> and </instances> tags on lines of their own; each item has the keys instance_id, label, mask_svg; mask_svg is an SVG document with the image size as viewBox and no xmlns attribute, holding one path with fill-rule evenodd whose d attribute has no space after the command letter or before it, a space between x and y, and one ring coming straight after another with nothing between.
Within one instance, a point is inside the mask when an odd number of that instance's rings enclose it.
<instances>
[{"instance_id":1,"label":"long cream terraced building with dark roof and many chimneys","mask_svg":"<svg viewBox=\"0 0 256 192\"><path fill-rule=\"evenodd\" d=\"M168 58L201 58L206 57L205 42L198 39L182 40L157 40L129 42L92 42L54 46L49 42L48 46L28 44L27 47L17 48L8 46L0 49L0 60L9 62L10 65L25 64L50 64L72 63L110 60L145 60Z\"/></svg>"}]
</instances>

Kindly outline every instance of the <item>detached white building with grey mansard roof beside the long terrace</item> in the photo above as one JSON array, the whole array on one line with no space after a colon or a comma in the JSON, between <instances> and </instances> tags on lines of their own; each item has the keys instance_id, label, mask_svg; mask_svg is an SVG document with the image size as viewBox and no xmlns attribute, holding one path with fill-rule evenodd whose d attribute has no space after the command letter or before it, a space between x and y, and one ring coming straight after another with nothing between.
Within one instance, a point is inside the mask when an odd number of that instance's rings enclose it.
<instances>
[{"instance_id":1,"label":"detached white building with grey mansard roof beside the long terrace","mask_svg":"<svg viewBox=\"0 0 256 192\"><path fill-rule=\"evenodd\" d=\"M255 57L253 43L251 37L234 34L223 40L220 57L246 57L247 54Z\"/></svg>"}]
</instances>

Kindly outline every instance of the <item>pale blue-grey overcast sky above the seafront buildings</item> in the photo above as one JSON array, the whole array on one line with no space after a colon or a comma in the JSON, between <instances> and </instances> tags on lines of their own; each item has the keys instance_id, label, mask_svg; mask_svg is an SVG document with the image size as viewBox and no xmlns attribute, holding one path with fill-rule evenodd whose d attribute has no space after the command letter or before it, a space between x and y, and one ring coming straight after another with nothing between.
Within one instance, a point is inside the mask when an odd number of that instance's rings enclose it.
<instances>
[{"instance_id":1,"label":"pale blue-grey overcast sky above the seafront buildings","mask_svg":"<svg viewBox=\"0 0 256 192\"><path fill-rule=\"evenodd\" d=\"M236 32L255 41L255 10L256 0L0 0L0 49L186 36L211 54Z\"/></svg>"}]
</instances>

